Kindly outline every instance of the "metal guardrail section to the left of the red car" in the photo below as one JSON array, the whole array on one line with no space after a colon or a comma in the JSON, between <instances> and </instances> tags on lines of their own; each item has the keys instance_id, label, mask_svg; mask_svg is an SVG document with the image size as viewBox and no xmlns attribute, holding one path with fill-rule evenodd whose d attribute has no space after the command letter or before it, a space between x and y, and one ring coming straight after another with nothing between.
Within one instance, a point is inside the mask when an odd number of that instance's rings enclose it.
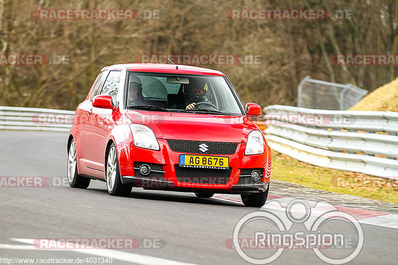
<instances>
[{"instance_id":1,"label":"metal guardrail section to the left of the red car","mask_svg":"<svg viewBox=\"0 0 398 265\"><path fill-rule=\"evenodd\" d=\"M0 106L0 129L69 132L75 111Z\"/></svg>"}]
</instances>

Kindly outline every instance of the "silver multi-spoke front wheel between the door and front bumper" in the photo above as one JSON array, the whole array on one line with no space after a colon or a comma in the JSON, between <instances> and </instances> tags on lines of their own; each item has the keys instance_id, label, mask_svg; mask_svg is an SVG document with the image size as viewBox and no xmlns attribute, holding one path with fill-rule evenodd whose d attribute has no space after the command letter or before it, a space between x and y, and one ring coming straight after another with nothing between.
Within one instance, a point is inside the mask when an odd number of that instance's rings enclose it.
<instances>
[{"instance_id":1,"label":"silver multi-spoke front wheel between the door and front bumper","mask_svg":"<svg viewBox=\"0 0 398 265\"><path fill-rule=\"evenodd\" d=\"M105 179L106 188L110 195L127 197L131 193L132 187L125 186L121 183L119 162L117 159L117 152L115 144L109 147L108 155L105 161Z\"/></svg>"}]
</instances>

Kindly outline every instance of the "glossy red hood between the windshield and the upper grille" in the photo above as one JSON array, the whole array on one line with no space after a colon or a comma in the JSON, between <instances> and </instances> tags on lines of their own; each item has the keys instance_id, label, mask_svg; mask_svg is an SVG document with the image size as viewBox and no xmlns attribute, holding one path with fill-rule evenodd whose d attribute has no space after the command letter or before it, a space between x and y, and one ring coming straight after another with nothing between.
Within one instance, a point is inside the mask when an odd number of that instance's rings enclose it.
<instances>
[{"instance_id":1,"label":"glossy red hood between the windshield and the upper grille","mask_svg":"<svg viewBox=\"0 0 398 265\"><path fill-rule=\"evenodd\" d=\"M245 143L258 127L246 116L128 110L133 123L148 126L156 138Z\"/></svg>"}]
</instances>

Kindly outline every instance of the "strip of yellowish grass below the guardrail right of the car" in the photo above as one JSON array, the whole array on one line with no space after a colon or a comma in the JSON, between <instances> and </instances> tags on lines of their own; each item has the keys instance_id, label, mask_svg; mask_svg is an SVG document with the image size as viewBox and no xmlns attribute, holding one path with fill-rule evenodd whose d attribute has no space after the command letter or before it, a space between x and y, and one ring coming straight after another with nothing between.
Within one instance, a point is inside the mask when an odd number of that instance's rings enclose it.
<instances>
[{"instance_id":1,"label":"strip of yellowish grass below the guardrail right of the car","mask_svg":"<svg viewBox=\"0 0 398 265\"><path fill-rule=\"evenodd\" d=\"M289 181L310 188L398 203L395 181L362 173L312 166L276 151L272 152L271 179Z\"/></svg>"}]
</instances>

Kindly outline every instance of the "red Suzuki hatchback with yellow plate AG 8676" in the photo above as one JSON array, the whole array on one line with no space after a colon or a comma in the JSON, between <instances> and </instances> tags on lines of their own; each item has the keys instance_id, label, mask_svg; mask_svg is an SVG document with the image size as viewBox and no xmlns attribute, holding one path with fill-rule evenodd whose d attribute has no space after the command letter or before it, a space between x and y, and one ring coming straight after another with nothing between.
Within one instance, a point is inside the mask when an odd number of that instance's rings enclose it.
<instances>
[{"instance_id":1,"label":"red Suzuki hatchback with yellow plate AG 8676","mask_svg":"<svg viewBox=\"0 0 398 265\"><path fill-rule=\"evenodd\" d=\"M219 71L172 64L104 67L76 110L68 139L68 179L111 195L132 187L241 194L246 206L268 196L271 150Z\"/></svg>"}]
</instances>

